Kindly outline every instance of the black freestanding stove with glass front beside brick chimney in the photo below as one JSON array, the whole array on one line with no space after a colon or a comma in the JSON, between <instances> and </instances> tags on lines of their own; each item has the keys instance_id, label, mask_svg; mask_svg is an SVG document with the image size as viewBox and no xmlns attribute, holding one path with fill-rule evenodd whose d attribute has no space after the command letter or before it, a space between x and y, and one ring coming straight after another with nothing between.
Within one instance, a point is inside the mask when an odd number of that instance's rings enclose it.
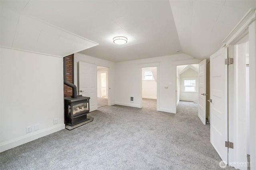
<instances>
[{"instance_id":1,"label":"black freestanding stove with glass front beside brick chimney","mask_svg":"<svg viewBox=\"0 0 256 170\"><path fill-rule=\"evenodd\" d=\"M65 124L74 126L89 120L87 114L90 111L90 98L82 95L72 98L71 96L64 98L65 107Z\"/></svg>"}]
</instances>

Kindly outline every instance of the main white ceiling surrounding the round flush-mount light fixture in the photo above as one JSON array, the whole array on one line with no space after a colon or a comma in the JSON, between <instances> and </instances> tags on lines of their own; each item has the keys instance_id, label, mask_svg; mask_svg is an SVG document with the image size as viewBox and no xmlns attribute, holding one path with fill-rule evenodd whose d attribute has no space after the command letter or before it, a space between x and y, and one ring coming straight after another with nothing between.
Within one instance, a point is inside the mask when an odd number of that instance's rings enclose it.
<instances>
[{"instance_id":1,"label":"main white ceiling surrounding the round flush-mount light fixture","mask_svg":"<svg viewBox=\"0 0 256 170\"><path fill-rule=\"evenodd\" d=\"M86 50L80 53L114 62L172 55L177 54L176 51L200 60L208 58L222 46L222 41L246 12L250 8L256 8L255 0L0 2L1 8L8 8L20 14L23 19L25 16L49 23L78 37L89 39L94 44L98 43L99 45L92 45L92 48L84 48ZM3 30L2 16L4 14L1 10L1 38L9 31L16 30L15 25L10 30ZM20 16L17 18L18 23L22 21ZM31 30L31 27L27 30ZM23 31L26 32L26 29ZM128 43L114 44L115 36L127 37ZM32 44L27 42L30 39L23 39L24 44ZM1 45L3 43L1 41ZM47 46L43 43L40 45Z\"/></svg>"}]
</instances>

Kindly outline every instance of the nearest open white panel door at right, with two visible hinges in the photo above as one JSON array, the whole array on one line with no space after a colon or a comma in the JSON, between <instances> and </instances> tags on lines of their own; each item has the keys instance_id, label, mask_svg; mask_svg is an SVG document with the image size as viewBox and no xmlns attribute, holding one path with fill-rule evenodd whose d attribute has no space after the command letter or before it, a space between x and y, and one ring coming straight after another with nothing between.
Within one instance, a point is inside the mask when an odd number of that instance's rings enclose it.
<instances>
[{"instance_id":1,"label":"nearest open white panel door at right, with two visible hinges","mask_svg":"<svg viewBox=\"0 0 256 170\"><path fill-rule=\"evenodd\" d=\"M210 57L210 141L220 158L228 163L228 58L223 47Z\"/></svg>"}]
</instances>

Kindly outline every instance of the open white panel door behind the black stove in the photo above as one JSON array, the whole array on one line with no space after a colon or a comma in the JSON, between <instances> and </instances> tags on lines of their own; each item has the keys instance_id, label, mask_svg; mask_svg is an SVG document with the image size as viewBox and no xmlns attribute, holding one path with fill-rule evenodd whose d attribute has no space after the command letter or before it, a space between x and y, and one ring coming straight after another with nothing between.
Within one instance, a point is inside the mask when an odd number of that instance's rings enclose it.
<instances>
[{"instance_id":1,"label":"open white panel door behind the black stove","mask_svg":"<svg viewBox=\"0 0 256 170\"><path fill-rule=\"evenodd\" d=\"M97 110L97 66L79 61L79 94L90 97L90 112Z\"/></svg>"}]
</instances>

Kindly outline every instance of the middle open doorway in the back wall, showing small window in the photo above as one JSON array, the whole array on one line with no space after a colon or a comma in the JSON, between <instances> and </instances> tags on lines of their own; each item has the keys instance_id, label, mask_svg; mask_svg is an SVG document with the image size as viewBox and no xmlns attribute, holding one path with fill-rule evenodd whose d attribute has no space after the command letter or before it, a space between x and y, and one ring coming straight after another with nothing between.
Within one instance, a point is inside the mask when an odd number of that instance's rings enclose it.
<instances>
[{"instance_id":1,"label":"middle open doorway in the back wall, showing small window","mask_svg":"<svg viewBox=\"0 0 256 170\"><path fill-rule=\"evenodd\" d=\"M157 107L157 67L142 68L142 107Z\"/></svg>"}]
</instances>

